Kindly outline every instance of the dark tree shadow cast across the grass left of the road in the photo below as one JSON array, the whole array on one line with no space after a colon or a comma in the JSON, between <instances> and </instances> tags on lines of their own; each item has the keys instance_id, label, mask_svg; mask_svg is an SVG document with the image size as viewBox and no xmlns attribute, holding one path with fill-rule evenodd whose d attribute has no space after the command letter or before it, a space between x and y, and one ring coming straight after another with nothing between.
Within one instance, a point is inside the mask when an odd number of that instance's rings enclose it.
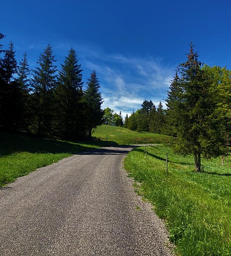
<instances>
[{"instance_id":1,"label":"dark tree shadow cast across the grass left of the road","mask_svg":"<svg viewBox=\"0 0 231 256\"><path fill-rule=\"evenodd\" d=\"M0 156L11 155L15 152L74 154L76 152L91 149L88 146L81 145L81 143L99 147L116 145L113 141L91 140L76 141L73 143L68 141L36 138L33 136L0 133Z\"/></svg>"}]
</instances>

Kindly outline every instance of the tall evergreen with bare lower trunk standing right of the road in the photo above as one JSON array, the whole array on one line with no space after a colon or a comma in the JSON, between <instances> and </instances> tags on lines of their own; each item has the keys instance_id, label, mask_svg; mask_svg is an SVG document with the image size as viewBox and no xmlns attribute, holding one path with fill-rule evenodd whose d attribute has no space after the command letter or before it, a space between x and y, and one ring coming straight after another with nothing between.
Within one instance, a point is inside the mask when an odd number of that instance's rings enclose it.
<instances>
[{"instance_id":1,"label":"tall evergreen with bare lower trunk standing right of the road","mask_svg":"<svg viewBox=\"0 0 231 256\"><path fill-rule=\"evenodd\" d=\"M192 44L187 57L187 61L178 66L181 77L177 88L181 88L181 93L177 101L180 104L171 105L170 97L167 103L174 109L171 118L176 132L175 151L193 154L195 171L200 172L201 155L211 158L221 154L220 120L210 94L211 78L201 70L201 62Z\"/></svg>"}]
</instances>

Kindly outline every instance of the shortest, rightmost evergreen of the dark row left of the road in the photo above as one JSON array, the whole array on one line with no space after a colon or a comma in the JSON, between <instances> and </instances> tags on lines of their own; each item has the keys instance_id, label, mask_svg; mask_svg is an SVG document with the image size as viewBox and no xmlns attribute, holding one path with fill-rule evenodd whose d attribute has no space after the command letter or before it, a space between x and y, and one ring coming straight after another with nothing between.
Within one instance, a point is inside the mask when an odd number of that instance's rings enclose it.
<instances>
[{"instance_id":1,"label":"shortest, rightmost evergreen of the dark row left of the road","mask_svg":"<svg viewBox=\"0 0 231 256\"><path fill-rule=\"evenodd\" d=\"M86 102L86 120L88 137L91 138L91 131L97 125L102 124L102 117L104 111L101 110L102 97L99 92L99 80L97 78L95 70L90 74L90 78L87 81L87 90L84 93L84 99Z\"/></svg>"}]
</instances>

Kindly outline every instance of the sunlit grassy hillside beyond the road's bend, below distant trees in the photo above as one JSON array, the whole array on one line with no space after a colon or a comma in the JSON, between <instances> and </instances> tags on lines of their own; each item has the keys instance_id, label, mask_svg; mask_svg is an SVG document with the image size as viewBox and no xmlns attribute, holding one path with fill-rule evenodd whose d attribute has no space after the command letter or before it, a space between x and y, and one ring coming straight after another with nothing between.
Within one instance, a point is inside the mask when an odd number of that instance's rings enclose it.
<instances>
[{"instance_id":1,"label":"sunlit grassy hillside beyond the road's bend, below distant trees","mask_svg":"<svg viewBox=\"0 0 231 256\"><path fill-rule=\"evenodd\" d=\"M138 133L123 127L110 125L98 126L96 129L94 129L92 136L100 138L102 141L114 141L120 145L166 144L170 142L170 137L167 135L146 132Z\"/></svg>"}]
</instances>

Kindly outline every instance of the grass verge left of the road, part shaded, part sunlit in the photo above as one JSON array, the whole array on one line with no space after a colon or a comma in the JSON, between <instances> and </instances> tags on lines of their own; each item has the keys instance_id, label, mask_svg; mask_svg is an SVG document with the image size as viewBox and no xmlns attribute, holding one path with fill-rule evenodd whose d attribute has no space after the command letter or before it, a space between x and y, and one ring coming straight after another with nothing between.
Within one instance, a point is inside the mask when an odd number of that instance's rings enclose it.
<instances>
[{"instance_id":1,"label":"grass verge left of the road, part shaded, part sunlit","mask_svg":"<svg viewBox=\"0 0 231 256\"><path fill-rule=\"evenodd\" d=\"M0 133L0 186L75 152L108 145L112 142L95 140L74 143Z\"/></svg>"}]
</instances>

